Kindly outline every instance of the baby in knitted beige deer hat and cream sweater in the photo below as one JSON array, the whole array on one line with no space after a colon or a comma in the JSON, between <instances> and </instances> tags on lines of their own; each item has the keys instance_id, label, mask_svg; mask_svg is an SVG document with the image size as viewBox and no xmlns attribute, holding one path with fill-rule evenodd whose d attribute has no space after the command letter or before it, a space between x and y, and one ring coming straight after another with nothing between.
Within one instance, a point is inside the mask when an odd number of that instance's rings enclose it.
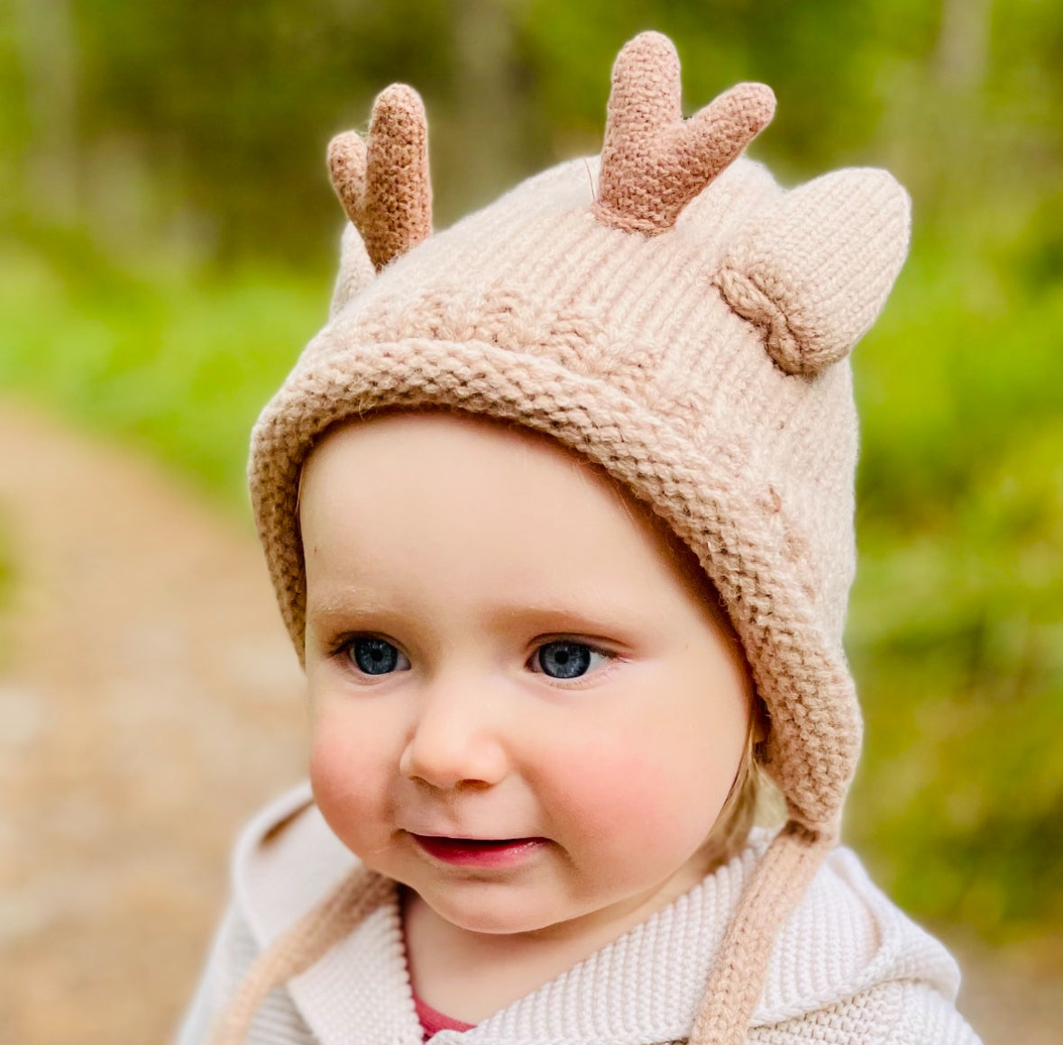
<instances>
[{"instance_id":1,"label":"baby in knitted beige deer hat and cream sweater","mask_svg":"<svg viewBox=\"0 0 1063 1045\"><path fill-rule=\"evenodd\" d=\"M684 121L643 34L600 160L438 236L414 91L333 142L333 315L251 463L310 789L244 832L181 1045L977 1042L838 845L846 356L908 201L781 190L773 112Z\"/></svg>"}]
</instances>

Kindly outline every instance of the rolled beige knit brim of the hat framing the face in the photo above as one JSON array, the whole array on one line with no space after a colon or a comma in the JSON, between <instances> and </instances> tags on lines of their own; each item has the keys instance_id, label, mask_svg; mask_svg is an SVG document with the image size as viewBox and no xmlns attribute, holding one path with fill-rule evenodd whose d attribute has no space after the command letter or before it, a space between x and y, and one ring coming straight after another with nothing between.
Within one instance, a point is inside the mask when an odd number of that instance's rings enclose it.
<instances>
[{"instance_id":1,"label":"rolled beige knit brim of the hat framing the face","mask_svg":"<svg viewBox=\"0 0 1063 1045\"><path fill-rule=\"evenodd\" d=\"M318 357L321 358L321 357ZM303 462L332 426L382 410L453 409L525 426L594 462L694 551L723 597L770 717L764 769L792 819L833 833L861 743L844 653L828 643L737 443L689 438L622 391L560 363L479 341L344 346L296 371L252 436L250 484L285 623L302 659ZM703 425L704 428L704 425Z\"/></svg>"}]
</instances>

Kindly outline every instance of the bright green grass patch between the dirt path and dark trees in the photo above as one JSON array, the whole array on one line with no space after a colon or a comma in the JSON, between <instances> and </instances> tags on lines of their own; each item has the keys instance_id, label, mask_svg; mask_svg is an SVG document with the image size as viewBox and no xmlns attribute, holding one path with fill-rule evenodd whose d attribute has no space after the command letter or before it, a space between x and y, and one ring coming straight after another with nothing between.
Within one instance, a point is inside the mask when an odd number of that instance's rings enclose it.
<instances>
[{"instance_id":1,"label":"bright green grass patch between the dirt path and dark trees","mask_svg":"<svg viewBox=\"0 0 1063 1045\"><path fill-rule=\"evenodd\" d=\"M327 309L321 279L109 263L85 240L0 255L0 387L149 448L235 504L247 440Z\"/></svg>"}]
</instances>

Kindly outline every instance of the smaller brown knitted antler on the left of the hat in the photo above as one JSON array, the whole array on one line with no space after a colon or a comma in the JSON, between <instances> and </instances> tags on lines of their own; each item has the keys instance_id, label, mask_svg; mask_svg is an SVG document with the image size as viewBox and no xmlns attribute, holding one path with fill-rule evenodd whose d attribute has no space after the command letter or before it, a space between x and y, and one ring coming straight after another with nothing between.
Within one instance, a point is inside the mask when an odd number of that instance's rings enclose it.
<instances>
[{"instance_id":1,"label":"smaller brown knitted antler on the left of the hat","mask_svg":"<svg viewBox=\"0 0 1063 1045\"><path fill-rule=\"evenodd\" d=\"M328 143L333 187L377 271L432 234L428 123L405 84L373 102L369 141L354 131Z\"/></svg>"}]
</instances>

